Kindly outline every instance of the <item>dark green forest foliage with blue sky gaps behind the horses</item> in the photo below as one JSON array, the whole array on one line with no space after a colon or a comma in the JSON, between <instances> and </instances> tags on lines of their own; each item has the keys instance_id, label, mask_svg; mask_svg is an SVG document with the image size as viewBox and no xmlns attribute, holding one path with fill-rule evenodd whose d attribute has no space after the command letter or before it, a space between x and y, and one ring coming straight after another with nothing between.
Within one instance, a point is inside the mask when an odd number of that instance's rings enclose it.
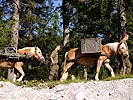
<instances>
[{"instance_id":1,"label":"dark green forest foliage with blue sky gaps behind the horses","mask_svg":"<svg viewBox=\"0 0 133 100\"><path fill-rule=\"evenodd\" d=\"M126 32L130 60L133 63L133 0L125 2ZM31 59L32 69L24 66L27 80L47 80L49 75L49 56L55 46L61 44L59 66L61 72L64 52L73 47L80 48L82 38L101 37L102 44L120 41L119 0L0 0L0 49L11 46L13 3L18 2L19 28L18 48L38 46L45 59L40 63ZM69 27L69 34L65 32ZM69 37L65 44L66 37ZM119 73L117 57L111 58L115 73ZM96 66L88 69L89 79L94 79ZM77 77L82 78L83 67L78 66ZM109 76L102 67L100 78ZM7 71L0 70L0 76L6 78Z\"/></svg>"}]
</instances>

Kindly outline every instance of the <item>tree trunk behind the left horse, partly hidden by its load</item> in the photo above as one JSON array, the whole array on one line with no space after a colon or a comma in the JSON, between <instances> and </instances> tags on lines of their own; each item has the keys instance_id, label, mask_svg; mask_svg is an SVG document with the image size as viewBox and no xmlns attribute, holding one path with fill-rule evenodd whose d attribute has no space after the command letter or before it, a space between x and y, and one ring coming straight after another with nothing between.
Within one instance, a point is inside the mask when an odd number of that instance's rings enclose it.
<instances>
[{"instance_id":1,"label":"tree trunk behind the left horse, partly hidden by its load","mask_svg":"<svg viewBox=\"0 0 133 100\"><path fill-rule=\"evenodd\" d=\"M11 32L11 46L18 48L18 33L19 33L19 0L13 1L13 15L12 19L14 20L14 25L12 26ZM11 81L16 81L16 75L14 75L14 68L8 69L7 79Z\"/></svg>"}]
</instances>

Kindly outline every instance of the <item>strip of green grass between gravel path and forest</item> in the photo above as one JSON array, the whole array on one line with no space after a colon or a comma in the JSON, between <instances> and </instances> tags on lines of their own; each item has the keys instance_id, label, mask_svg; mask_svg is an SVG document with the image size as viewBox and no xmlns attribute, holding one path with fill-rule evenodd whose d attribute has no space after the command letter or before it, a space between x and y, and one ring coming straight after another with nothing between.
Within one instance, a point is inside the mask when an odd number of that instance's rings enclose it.
<instances>
[{"instance_id":1,"label":"strip of green grass between gravel path and forest","mask_svg":"<svg viewBox=\"0 0 133 100\"><path fill-rule=\"evenodd\" d=\"M132 75L116 75L115 78L112 77L108 77L105 79L101 79L101 81L111 81L111 80L120 80L120 79L126 79L126 78L133 78L133 74ZM4 78L0 78L0 81L4 81L7 82L8 80L4 79ZM53 88L56 85L59 84L70 84L70 83L78 83L78 82L88 82L90 80L81 80L81 79L75 79L75 80L71 80L68 79L66 81L43 81L43 80L24 80L21 82L12 82L15 85L18 86L23 86L23 87L39 87L39 88L43 88L43 87L49 87L49 88ZM10 81L11 82L11 81Z\"/></svg>"}]
</instances>

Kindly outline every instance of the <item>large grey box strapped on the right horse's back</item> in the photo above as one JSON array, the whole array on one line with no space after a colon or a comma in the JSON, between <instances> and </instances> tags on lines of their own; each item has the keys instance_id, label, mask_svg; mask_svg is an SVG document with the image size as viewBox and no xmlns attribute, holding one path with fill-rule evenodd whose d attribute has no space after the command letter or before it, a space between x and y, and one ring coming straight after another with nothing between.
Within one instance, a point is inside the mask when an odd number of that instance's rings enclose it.
<instances>
[{"instance_id":1,"label":"large grey box strapped on the right horse's back","mask_svg":"<svg viewBox=\"0 0 133 100\"><path fill-rule=\"evenodd\" d=\"M101 38L81 39L81 53L101 53Z\"/></svg>"}]
</instances>

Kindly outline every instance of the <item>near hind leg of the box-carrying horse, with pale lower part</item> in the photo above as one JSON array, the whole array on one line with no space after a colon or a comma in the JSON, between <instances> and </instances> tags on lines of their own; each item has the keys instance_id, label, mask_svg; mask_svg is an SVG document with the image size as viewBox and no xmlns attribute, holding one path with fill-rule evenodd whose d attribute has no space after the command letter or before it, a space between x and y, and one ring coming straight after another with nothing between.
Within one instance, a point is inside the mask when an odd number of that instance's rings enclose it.
<instances>
[{"instance_id":1,"label":"near hind leg of the box-carrying horse, with pale lower part","mask_svg":"<svg viewBox=\"0 0 133 100\"><path fill-rule=\"evenodd\" d=\"M64 81L64 80L67 79L67 77L68 77L68 72L67 72L67 70L68 70L73 64L74 64L74 62L69 62L69 63L67 63L67 64L64 66L64 68L63 68L63 73L62 73L62 77L61 77L60 81Z\"/></svg>"}]
</instances>

